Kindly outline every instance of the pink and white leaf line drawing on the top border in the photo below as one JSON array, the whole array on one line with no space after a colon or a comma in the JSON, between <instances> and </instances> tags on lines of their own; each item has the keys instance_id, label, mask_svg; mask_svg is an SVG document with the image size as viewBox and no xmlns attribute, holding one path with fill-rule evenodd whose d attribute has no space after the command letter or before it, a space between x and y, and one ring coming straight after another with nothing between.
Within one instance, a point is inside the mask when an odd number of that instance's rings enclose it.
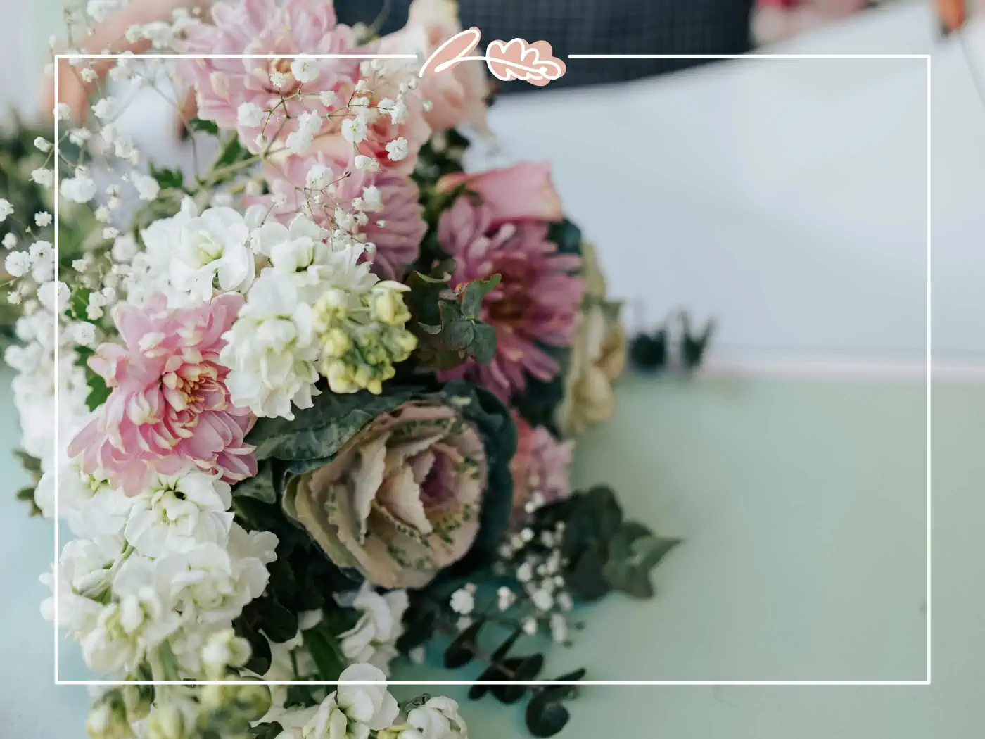
<instances>
[{"instance_id":1,"label":"pink and white leaf line drawing on the top border","mask_svg":"<svg viewBox=\"0 0 985 739\"><path fill-rule=\"evenodd\" d=\"M482 32L473 27L446 40L427 57L419 76L440 74L463 61L485 61L498 80L525 80L543 87L566 71L564 62L554 55L547 41L528 43L522 38L510 41L495 39L486 48L486 56L469 56L479 45Z\"/></svg>"}]
</instances>

